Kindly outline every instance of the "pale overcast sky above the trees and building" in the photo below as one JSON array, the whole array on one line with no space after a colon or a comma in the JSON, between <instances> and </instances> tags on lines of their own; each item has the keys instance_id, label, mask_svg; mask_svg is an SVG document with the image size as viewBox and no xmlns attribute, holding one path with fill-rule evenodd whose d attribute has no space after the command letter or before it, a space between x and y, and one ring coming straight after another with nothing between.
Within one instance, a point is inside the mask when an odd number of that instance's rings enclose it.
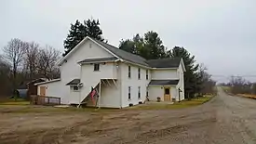
<instances>
[{"instance_id":1,"label":"pale overcast sky above the trees and building","mask_svg":"<svg viewBox=\"0 0 256 144\"><path fill-rule=\"evenodd\" d=\"M220 76L256 75L255 6L255 0L1 0L0 47L20 38L62 52L70 23L93 18L114 46L155 31L165 46L184 46L214 78L226 80Z\"/></svg>"}]
</instances>

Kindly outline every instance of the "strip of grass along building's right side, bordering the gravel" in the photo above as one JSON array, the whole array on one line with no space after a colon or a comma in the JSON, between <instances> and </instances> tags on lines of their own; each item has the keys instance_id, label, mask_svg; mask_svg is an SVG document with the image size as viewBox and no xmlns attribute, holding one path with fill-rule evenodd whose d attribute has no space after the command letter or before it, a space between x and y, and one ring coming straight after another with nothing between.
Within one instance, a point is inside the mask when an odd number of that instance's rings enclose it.
<instances>
[{"instance_id":1,"label":"strip of grass along building's right side, bordering the gravel","mask_svg":"<svg viewBox=\"0 0 256 144\"><path fill-rule=\"evenodd\" d=\"M192 106L197 106L209 101L210 97L200 97L200 98L193 98L190 100L184 99L181 102L175 102L174 104L164 104L164 103L152 103L152 104L143 104L134 107L130 107L129 109L134 110L165 110L165 109L182 109L188 108Z\"/></svg>"}]
</instances>

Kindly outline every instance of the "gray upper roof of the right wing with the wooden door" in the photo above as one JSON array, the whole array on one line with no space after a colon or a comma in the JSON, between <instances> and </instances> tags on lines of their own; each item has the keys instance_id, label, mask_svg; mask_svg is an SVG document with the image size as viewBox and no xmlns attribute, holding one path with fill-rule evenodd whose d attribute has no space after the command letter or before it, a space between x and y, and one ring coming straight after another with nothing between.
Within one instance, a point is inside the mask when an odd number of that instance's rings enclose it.
<instances>
[{"instance_id":1,"label":"gray upper roof of the right wing with the wooden door","mask_svg":"<svg viewBox=\"0 0 256 144\"><path fill-rule=\"evenodd\" d=\"M147 63L152 68L178 68L181 63L181 59L150 59L147 60Z\"/></svg>"}]
</instances>

